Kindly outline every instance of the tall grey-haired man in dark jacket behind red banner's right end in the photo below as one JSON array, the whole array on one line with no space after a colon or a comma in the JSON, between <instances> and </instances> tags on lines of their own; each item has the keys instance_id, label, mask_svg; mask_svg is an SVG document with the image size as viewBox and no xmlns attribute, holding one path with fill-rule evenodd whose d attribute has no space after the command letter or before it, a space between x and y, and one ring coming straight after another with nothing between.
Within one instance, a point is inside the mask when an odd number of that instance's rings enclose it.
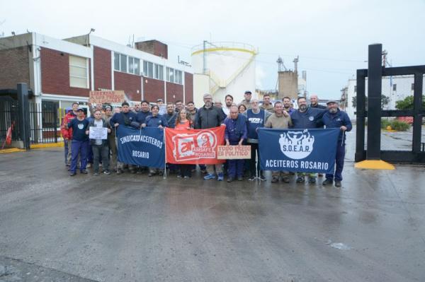
<instances>
[{"instance_id":1,"label":"tall grey-haired man in dark jacket behind red banner's right end","mask_svg":"<svg viewBox=\"0 0 425 282\"><path fill-rule=\"evenodd\" d=\"M222 124L222 111L212 105L212 95L204 94L203 100L205 105L200 107L195 116L195 129L209 129L213 127L220 127ZM219 143L221 142L218 141ZM212 180L215 179L215 172L217 172L217 180L223 181L224 176L222 172L222 165L207 165L208 174L205 175L204 180Z\"/></svg>"}]
</instances>

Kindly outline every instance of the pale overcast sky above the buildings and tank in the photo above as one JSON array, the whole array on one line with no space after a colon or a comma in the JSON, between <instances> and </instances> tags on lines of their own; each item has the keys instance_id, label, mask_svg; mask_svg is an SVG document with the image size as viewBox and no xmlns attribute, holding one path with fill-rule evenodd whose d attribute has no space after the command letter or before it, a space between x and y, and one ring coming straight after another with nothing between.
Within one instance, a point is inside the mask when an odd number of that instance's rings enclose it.
<instances>
[{"instance_id":1,"label":"pale overcast sky above the buildings and tank","mask_svg":"<svg viewBox=\"0 0 425 282\"><path fill-rule=\"evenodd\" d=\"M191 61L203 40L245 42L259 49L256 84L276 88L280 55L307 71L307 90L339 98L367 68L368 45L382 43L393 66L425 64L425 0L409 1L22 1L0 0L0 34L35 31L57 38L95 28L95 35L128 44L157 39L169 58Z\"/></svg>"}]
</instances>

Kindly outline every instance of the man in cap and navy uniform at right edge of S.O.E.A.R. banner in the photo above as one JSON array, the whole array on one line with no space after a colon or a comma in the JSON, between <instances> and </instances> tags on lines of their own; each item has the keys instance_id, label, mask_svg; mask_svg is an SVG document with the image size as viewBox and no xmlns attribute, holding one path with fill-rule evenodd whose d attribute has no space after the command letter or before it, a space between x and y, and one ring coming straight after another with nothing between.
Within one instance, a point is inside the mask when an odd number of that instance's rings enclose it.
<instances>
[{"instance_id":1,"label":"man in cap and navy uniform at right edge of S.O.E.A.R. banner","mask_svg":"<svg viewBox=\"0 0 425 282\"><path fill-rule=\"evenodd\" d=\"M336 143L335 173L326 174L326 180L322 182L324 186L331 185L335 180L335 186L341 187L342 169L344 168L345 157L345 133L353 128L350 118L346 112L339 110L338 103L330 100L327 102L328 110L322 117L322 122L326 128L339 128L338 143Z\"/></svg>"}]
</instances>

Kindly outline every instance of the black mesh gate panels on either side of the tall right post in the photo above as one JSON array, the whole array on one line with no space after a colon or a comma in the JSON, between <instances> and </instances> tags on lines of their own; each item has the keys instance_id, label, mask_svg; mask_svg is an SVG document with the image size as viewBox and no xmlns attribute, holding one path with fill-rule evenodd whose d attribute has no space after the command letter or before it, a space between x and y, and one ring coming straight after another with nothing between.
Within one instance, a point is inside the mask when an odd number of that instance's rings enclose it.
<instances>
[{"instance_id":1,"label":"black mesh gate panels on either side of the tall right post","mask_svg":"<svg viewBox=\"0 0 425 282\"><path fill-rule=\"evenodd\" d=\"M381 129L380 132L376 132L380 134L382 160L424 163L424 72L425 66L382 68ZM368 70L358 70L357 75L357 101L364 99L363 107L357 108L359 139L356 147L356 161L360 161L365 159L365 151L368 147L366 144L368 140ZM399 125L399 123L402 124Z\"/></svg>"}]
</instances>

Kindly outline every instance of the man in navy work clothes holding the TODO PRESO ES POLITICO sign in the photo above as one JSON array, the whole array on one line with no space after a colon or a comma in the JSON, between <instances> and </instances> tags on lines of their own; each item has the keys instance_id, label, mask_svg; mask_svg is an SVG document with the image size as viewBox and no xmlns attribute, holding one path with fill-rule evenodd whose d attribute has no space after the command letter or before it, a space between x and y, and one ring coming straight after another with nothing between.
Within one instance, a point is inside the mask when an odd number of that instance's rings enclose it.
<instances>
[{"instance_id":1,"label":"man in navy work clothes holding the TODO PRESO ES POLITICO sign","mask_svg":"<svg viewBox=\"0 0 425 282\"><path fill-rule=\"evenodd\" d=\"M230 117L225 119L226 130L225 140L226 146L242 145L246 139L246 117L239 114L237 106L231 106L229 110ZM238 181L242 181L244 173L244 160L229 160L229 178L227 182L232 182L236 177Z\"/></svg>"}]
</instances>

